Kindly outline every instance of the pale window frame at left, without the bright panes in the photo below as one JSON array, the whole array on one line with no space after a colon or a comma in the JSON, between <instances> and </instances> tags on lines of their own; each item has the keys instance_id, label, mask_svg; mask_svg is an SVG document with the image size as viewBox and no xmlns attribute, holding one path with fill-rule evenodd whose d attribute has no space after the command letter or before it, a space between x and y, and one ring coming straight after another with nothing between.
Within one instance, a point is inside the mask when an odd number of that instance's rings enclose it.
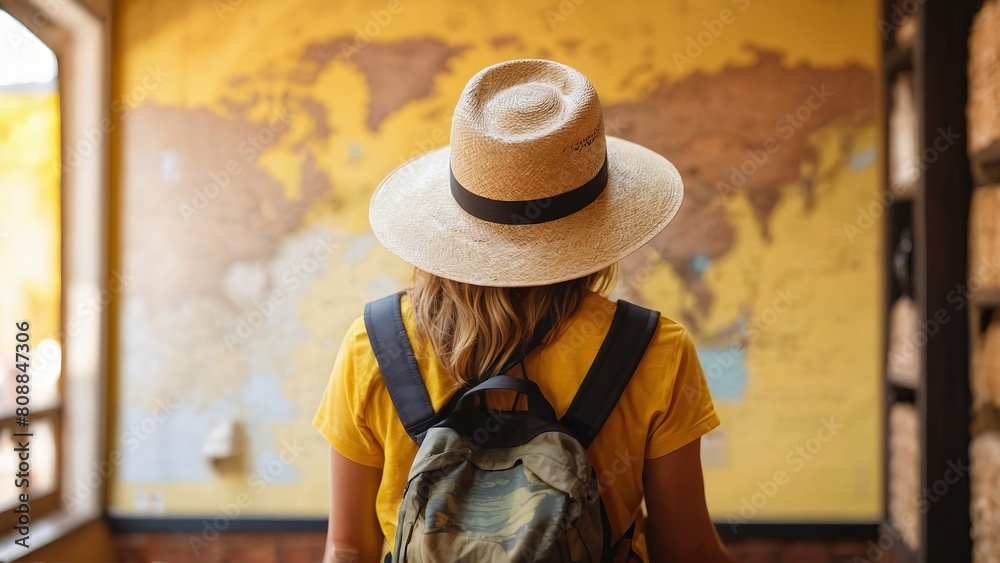
<instances>
[{"instance_id":1,"label":"pale window frame at left, without the bright panes","mask_svg":"<svg viewBox=\"0 0 1000 563\"><path fill-rule=\"evenodd\" d=\"M111 287L108 159L114 123L109 115L110 2L5 0L3 7L56 54L62 162L61 401L32 412L36 420L46 417L56 423L57 485L55 493L31 499L28 549L14 544L16 531L7 533L10 528L4 528L0 560L8 561L100 518L104 510L109 313L100 307L92 319L81 323L75 312L88 310L88 303L100 301L102 292ZM105 134L94 142L94 131ZM89 149L78 150L82 143L89 143ZM72 164L67 160L71 154ZM0 426L5 423L0 420ZM71 440L64 439L68 429L73 430ZM91 487L95 474L99 479ZM78 495L81 483L90 489Z\"/></svg>"}]
</instances>

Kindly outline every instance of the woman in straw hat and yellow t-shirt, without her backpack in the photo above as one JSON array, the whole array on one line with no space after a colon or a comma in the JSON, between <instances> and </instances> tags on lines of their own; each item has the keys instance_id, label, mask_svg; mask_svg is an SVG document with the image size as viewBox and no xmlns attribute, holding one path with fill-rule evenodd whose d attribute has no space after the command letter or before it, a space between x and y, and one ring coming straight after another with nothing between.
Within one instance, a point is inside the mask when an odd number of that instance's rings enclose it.
<instances>
[{"instance_id":1,"label":"woman in straw hat and yellow t-shirt, without her backpack","mask_svg":"<svg viewBox=\"0 0 1000 563\"><path fill-rule=\"evenodd\" d=\"M579 72L522 60L473 77L451 145L383 180L369 217L382 244L416 268L402 317L435 411L499 373L546 319L552 328L516 373L561 416L609 331L615 304L603 294L615 265L662 231L682 194L666 159L605 137L600 101ZM492 406L511 407L492 393ZM634 522L642 560L730 561L705 506L699 455L700 437L718 424L690 336L660 317L587 449L611 535ZM360 318L314 425L331 444L326 561L379 561L418 446Z\"/></svg>"}]
</instances>

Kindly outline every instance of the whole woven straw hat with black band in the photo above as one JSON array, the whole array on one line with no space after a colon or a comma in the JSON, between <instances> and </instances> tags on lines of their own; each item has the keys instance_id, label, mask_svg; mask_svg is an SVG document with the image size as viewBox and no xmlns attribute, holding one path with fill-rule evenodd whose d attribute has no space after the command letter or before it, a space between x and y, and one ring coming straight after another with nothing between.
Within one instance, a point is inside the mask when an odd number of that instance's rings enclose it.
<instances>
[{"instance_id":1,"label":"whole woven straw hat with black band","mask_svg":"<svg viewBox=\"0 0 1000 563\"><path fill-rule=\"evenodd\" d=\"M451 145L410 160L372 196L390 252L459 282L520 287L618 262L677 213L680 174L653 151L604 135L580 72L517 60L472 77Z\"/></svg>"}]
</instances>

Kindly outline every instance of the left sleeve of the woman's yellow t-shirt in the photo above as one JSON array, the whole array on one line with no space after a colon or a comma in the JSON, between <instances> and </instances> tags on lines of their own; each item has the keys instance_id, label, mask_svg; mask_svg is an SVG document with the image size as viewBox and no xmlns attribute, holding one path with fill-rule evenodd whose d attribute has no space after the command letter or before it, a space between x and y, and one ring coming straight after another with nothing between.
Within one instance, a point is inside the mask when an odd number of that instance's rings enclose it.
<instances>
[{"instance_id":1,"label":"left sleeve of the woman's yellow t-shirt","mask_svg":"<svg viewBox=\"0 0 1000 563\"><path fill-rule=\"evenodd\" d=\"M365 420L363 374L359 373L357 358L358 343L366 339L360 333L363 326L356 321L347 331L333 363L333 373L330 374L319 410L313 418L313 426L344 457L355 463L380 468L385 463L385 454Z\"/></svg>"}]
</instances>

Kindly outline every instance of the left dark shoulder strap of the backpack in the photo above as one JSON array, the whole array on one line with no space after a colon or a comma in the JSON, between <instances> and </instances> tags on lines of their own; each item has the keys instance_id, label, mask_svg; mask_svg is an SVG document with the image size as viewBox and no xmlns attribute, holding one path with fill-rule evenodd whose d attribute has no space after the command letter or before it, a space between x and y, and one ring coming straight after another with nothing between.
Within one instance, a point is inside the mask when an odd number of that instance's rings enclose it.
<instances>
[{"instance_id":1,"label":"left dark shoulder strap of the backpack","mask_svg":"<svg viewBox=\"0 0 1000 563\"><path fill-rule=\"evenodd\" d=\"M436 416L406 335L399 305L402 296L402 292L395 293L366 304L365 329L399 420L410 438L420 444Z\"/></svg>"}]
</instances>

